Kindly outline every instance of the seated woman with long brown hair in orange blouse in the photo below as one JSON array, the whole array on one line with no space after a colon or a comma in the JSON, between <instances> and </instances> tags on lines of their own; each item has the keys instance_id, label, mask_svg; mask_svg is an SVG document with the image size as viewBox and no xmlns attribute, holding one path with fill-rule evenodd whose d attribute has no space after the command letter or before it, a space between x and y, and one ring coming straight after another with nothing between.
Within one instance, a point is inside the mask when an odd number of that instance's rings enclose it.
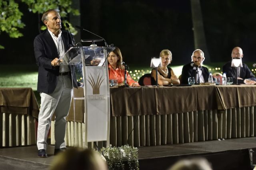
<instances>
[{"instance_id":1,"label":"seated woman with long brown hair in orange blouse","mask_svg":"<svg viewBox=\"0 0 256 170\"><path fill-rule=\"evenodd\" d=\"M108 55L108 78L116 79L118 84L124 84L124 66L122 66L122 54L118 47ZM129 86L140 86L128 72L126 82Z\"/></svg>"}]
</instances>

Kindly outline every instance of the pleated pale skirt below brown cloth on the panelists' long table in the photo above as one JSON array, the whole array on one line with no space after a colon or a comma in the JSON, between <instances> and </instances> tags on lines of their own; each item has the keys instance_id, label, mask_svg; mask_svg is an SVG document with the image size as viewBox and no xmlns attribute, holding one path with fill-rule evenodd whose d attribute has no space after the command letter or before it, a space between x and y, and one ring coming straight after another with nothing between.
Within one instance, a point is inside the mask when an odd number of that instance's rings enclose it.
<instances>
[{"instance_id":1,"label":"pleated pale skirt below brown cloth on the panelists' long table","mask_svg":"<svg viewBox=\"0 0 256 170\"><path fill-rule=\"evenodd\" d=\"M254 110L255 106L168 115L111 116L110 144L140 147L254 137L256 136ZM84 143L83 129L84 123L68 122L66 145L95 147L94 143ZM52 121L51 139L51 144L54 144L54 121ZM97 142L96 145L101 147L103 142Z\"/></svg>"}]
</instances>

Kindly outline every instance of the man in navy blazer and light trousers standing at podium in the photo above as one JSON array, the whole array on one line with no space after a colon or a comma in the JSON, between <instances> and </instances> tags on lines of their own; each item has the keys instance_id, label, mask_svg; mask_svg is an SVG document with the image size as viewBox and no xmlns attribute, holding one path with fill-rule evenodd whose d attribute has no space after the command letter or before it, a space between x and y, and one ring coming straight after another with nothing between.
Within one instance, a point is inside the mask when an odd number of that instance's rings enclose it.
<instances>
[{"instance_id":1,"label":"man in navy blazer and light trousers standing at podium","mask_svg":"<svg viewBox=\"0 0 256 170\"><path fill-rule=\"evenodd\" d=\"M37 147L38 156L47 157L47 137L51 118L55 113L54 155L66 150L64 141L66 131L66 116L70 109L73 95L70 67L61 65L58 58L72 44L72 37L67 31L62 31L60 14L52 9L44 12L42 21L47 30L34 39L34 52L38 65L37 90L41 96L41 107L38 115ZM74 86L76 86L76 81Z\"/></svg>"}]
</instances>

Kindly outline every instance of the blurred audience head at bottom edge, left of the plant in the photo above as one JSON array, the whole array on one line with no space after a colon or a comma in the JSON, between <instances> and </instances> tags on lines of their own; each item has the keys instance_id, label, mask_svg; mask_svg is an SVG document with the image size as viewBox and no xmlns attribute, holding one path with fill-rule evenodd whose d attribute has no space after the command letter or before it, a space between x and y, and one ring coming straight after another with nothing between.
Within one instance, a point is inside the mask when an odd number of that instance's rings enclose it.
<instances>
[{"instance_id":1,"label":"blurred audience head at bottom edge, left of the plant","mask_svg":"<svg viewBox=\"0 0 256 170\"><path fill-rule=\"evenodd\" d=\"M50 170L107 170L106 162L91 149L68 149L53 160Z\"/></svg>"}]
</instances>

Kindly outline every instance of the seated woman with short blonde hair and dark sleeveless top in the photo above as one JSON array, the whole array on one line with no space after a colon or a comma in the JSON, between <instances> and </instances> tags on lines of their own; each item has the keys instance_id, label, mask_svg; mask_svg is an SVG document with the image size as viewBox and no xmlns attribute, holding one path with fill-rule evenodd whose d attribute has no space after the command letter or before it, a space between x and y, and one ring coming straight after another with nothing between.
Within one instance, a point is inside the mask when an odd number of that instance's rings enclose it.
<instances>
[{"instance_id":1,"label":"seated woman with short blonde hair and dark sleeveless top","mask_svg":"<svg viewBox=\"0 0 256 170\"><path fill-rule=\"evenodd\" d=\"M180 84L180 80L174 74L172 68L168 67L168 64L172 62L172 53L170 50L162 50L160 53L162 60L162 66L157 69L158 85ZM151 83L156 85L156 69L151 71Z\"/></svg>"}]
</instances>

